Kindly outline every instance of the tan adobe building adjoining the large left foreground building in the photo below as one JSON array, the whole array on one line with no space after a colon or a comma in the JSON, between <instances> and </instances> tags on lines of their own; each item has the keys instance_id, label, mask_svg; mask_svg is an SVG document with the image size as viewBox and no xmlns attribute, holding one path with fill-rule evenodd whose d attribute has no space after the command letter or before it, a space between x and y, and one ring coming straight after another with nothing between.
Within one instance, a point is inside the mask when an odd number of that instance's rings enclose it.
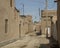
<instances>
[{"instance_id":1,"label":"tan adobe building adjoining the large left foreground building","mask_svg":"<svg viewBox=\"0 0 60 48\"><path fill-rule=\"evenodd\" d=\"M28 20L25 15L20 15L19 36L24 37L28 33Z\"/></svg>"}]
</instances>

